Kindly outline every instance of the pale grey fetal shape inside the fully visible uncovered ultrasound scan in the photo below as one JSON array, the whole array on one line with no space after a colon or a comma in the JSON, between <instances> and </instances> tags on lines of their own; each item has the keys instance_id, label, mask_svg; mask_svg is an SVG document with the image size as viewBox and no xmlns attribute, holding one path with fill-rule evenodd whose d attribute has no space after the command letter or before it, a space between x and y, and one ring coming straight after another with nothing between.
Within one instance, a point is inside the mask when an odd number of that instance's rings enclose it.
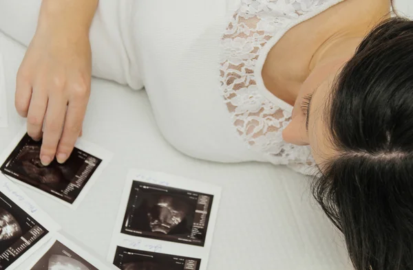
<instances>
[{"instance_id":1,"label":"pale grey fetal shape inside the fully visible uncovered ultrasound scan","mask_svg":"<svg viewBox=\"0 0 413 270\"><path fill-rule=\"evenodd\" d=\"M179 197L160 195L155 198L147 214L149 226L152 232L169 234L187 216L191 207Z\"/></svg>"}]
</instances>

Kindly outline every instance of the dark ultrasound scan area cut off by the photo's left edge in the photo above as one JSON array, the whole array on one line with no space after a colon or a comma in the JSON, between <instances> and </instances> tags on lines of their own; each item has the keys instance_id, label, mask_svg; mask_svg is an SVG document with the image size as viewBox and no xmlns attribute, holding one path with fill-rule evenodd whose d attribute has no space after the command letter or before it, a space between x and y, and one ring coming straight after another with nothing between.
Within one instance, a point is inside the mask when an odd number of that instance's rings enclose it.
<instances>
[{"instance_id":1,"label":"dark ultrasound scan area cut off by the photo's left edge","mask_svg":"<svg viewBox=\"0 0 413 270\"><path fill-rule=\"evenodd\" d=\"M34 218L0 192L0 269L7 269L47 234Z\"/></svg>"}]
</instances>

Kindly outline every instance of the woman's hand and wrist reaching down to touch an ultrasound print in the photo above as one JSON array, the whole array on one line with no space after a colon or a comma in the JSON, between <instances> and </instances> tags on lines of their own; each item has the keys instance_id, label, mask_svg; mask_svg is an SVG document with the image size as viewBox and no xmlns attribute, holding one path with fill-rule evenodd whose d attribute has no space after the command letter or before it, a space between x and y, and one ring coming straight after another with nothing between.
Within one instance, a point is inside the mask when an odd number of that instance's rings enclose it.
<instances>
[{"instance_id":1,"label":"woman's hand and wrist reaching down to touch an ultrasound print","mask_svg":"<svg viewBox=\"0 0 413 270\"><path fill-rule=\"evenodd\" d=\"M43 0L36 33L17 74L15 105L28 134L43 137L41 161L72 153L90 93L89 27L98 0Z\"/></svg>"}]
</instances>

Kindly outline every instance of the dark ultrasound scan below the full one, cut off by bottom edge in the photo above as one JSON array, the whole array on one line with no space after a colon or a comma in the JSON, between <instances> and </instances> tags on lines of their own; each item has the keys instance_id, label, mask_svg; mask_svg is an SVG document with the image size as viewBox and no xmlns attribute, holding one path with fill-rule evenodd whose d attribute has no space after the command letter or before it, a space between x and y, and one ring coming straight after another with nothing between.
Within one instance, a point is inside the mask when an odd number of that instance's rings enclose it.
<instances>
[{"instance_id":1,"label":"dark ultrasound scan below the full one, cut off by bottom edge","mask_svg":"<svg viewBox=\"0 0 413 270\"><path fill-rule=\"evenodd\" d=\"M116 247L114 265L121 270L199 270L201 260Z\"/></svg>"}]
</instances>

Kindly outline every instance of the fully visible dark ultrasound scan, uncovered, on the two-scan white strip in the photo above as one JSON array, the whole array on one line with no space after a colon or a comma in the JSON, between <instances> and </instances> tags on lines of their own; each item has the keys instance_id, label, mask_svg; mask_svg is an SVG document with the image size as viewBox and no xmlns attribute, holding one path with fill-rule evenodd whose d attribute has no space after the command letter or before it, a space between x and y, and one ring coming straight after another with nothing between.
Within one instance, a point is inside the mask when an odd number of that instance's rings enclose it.
<instances>
[{"instance_id":1,"label":"fully visible dark ultrasound scan, uncovered, on the two-scan white strip","mask_svg":"<svg viewBox=\"0 0 413 270\"><path fill-rule=\"evenodd\" d=\"M134 181L121 232L204 246L213 195Z\"/></svg>"}]
</instances>

